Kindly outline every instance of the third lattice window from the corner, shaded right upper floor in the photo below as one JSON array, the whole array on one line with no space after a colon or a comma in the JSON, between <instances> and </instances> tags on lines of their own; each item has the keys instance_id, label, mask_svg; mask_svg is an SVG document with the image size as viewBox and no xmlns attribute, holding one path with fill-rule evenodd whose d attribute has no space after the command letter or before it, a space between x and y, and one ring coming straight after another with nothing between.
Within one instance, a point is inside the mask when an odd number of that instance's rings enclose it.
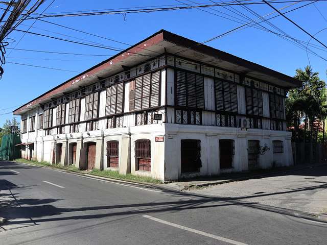
<instances>
[{"instance_id":1,"label":"third lattice window from the corner, shaded right upper floor","mask_svg":"<svg viewBox=\"0 0 327 245\"><path fill-rule=\"evenodd\" d=\"M263 116L262 91L245 88L246 113L248 115Z\"/></svg>"}]
</instances>

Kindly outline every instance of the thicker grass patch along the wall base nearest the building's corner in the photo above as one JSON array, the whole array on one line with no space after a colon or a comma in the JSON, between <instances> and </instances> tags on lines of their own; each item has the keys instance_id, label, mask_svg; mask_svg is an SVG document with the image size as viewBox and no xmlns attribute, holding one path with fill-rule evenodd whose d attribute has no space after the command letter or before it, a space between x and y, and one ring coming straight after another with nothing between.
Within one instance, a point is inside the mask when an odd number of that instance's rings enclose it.
<instances>
[{"instance_id":1,"label":"thicker grass patch along the wall base nearest the building's corner","mask_svg":"<svg viewBox=\"0 0 327 245\"><path fill-rule=\"evenodd\" d=\"M112 171L112 170L103 170L100 171L98 169L93 169L90 171L91 175L97 175L97 176L103 176L103 177L109 177L114 179L120 179L120 180L134 180L138 182L147 182L147 183L153 183L153 184L162 184L162 181L153 179L151 177L146 176L136 176L132 174L127 175L121 175L118 171Z\"/></svg>"}]
</instances>

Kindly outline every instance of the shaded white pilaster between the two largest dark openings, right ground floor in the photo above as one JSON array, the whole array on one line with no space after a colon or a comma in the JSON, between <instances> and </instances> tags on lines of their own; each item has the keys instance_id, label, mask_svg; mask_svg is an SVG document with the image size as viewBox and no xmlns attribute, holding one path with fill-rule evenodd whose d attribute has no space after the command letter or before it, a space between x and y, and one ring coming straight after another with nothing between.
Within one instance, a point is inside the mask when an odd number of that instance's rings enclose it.
<instances>
[{"instance_id":1,"label":"shaded white pilaster between the two largest dark openings, right ground floor","mask_svg":"<svg viewBox=\"0 0 327 245\"><path fill-rule=\"evenodd\" d=\"M204 152L206 154L206 173L205 175L219 175L220 167L219 167L219 145L218 145L218 137L217 134L206 134L206 147ZM204 144L203 144L204 146ZM201 146L201 149L202 147ZM202 163L202 167L204 167L204 163Z\"/></svg>"}]
</instances>

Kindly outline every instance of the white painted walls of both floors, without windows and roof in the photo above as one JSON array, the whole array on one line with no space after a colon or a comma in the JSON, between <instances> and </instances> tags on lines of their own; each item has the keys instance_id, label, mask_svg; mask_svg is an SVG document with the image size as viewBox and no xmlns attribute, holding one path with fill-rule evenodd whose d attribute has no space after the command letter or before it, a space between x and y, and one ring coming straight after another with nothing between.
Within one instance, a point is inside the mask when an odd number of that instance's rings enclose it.
<instances>
[{"instance_id":1,"label":"white painted walls of both floors, without windows and roof","mask_svg":"<svg viewBox=\"0 0 327 245\"><path fill-rule=\"evenodd\" d=\"M165 62L165 59L167 62ZM108 105L106 89L115 84L110 82L110 78L115 77L115 75L100 82L96 80L94 83L89 83L87 84L88 86L83 87L84 90L76 89L69 91L68 97L71 96L69 99L66 99L67 95L59 94L56 100L46 102L32 110L21 113L21 119L27 119L24 122L27 123L27 132L21 134L22 142L27 143L25 150L22 151L22 156L33 158L37 161L59 162L62 165L71 165L74 162L76 167L88 168L87 162L90 161L88 159L88 152L90 151L88 147L90 142L94 142L96 152L95 168L101 170L119 170L121 174L132 173L133 175L149 176L162 181L170 181L192 176L215 176L232 171L249 170L249 140L258 140L261 148L263 146L269 148L263 155L258 154L258 168L289 166L293 164L291 133L283 130L271 130L270 96L271 94L278 93L281 97L284 97L285 88L279 85L274 86L272 82L265 83L262 80L242 77L237 72L220 70L218 67L209 66L210 64L204 65L196 61L185 62L181 58L174 59L170 55L164 54L156 58L155 61L157 63L154 62L153 64L156 64L156 66L153 65L155 67L152 67L150 71L145 71L146 62L134 65L130 68L131 77L127 79L123 78L118 82L123 83L124 87L123 109L122 112L114 114L114 117L108 115L106 112ZM149 64L152 64L151 62ZM201 68L199 69L199 67ZM142 72L136 75L141 70ZM197 76L203 77L204 107L193 108L192 112L188 111L188 115L191 115L190 113L193 113L193 111L195 114L197 112L200 113L200 119L194 115L194 120L199 119L199 125L197 125L197 122L193 122L193 119L188 119L192 124L178 123L179 119L176 117L177 110L189 109L183 109L176 104L176 98L178 96L178 91L176 91L177 70L191 71ZM131 110L130 106L133 103L130 100L132 98L130 95L131 87L133 86L132 82L140 76L155 71L160 72L158 104L154 107L142 108L141 110ZM236 84L237 112L229 113L217 110L217 94L215 92L217 89L215 87L217 79ZM254 120L260 119L260 127L256 125L256 127L259 127L257 129L255 127L242 126L243 119L251 117L247 113L247 88L258 89L262 92L263 114L254 118ZM87 101L85 96L94 92L99 93L97 117L86 119ZM72 100L73 94L75 100L80 100L79 120L74 123L68 121L68 117L71 115L69 101ZM58 119L56 116L57 107L61 103L64 104L65 108L64 122L58 126L56 125ZM284 107L284 99L282 104ZM132 105L134 107L134 104ZM52 109L52 126L49 129L44 129L44 127L40 129L42 127L39 124L39 115L44 114L44 111L48 108ZM285 108L283 110L285 112ZM151 120L153 113L161 114L162 119ZM235 116L235 125L229 125L230 127L217 126L217 114ZM142 121L138 119L144 115L147 115L146 120ZM32 116L35 116L34 130L31 130L29 125L29 118ZM108 126L110 125L110 120L114 121L115 128ZM285 120L282 119L279 121L280 126L278 129L285 129ZM87 130L90 129L87 127L91 127L89 126L90 122L94 128ZM72 130L73 125L76 125L74 127L78 130ZM63 128L62 133L58 133L60 132L59 127ZM163 136L164 140L157 142L157 136ZM135 155L135 142L140 139L150 140L151 149L149 152L151 166L149 169L151 170L138 170L139 165L137 161L139 160ZM183 150L181 149L181 142L185 139L200 140L197 141L200 142L200 154L197 161L201 163L201 167L198 170L183 173L181 163ZM222 153L220 152L220 144L225 142L220 141L222 139L233 140L231 141L233 144L233 154L229 167L221 167ZM274 153L274 140L279 140L279 143L281 141L283 142L281 152ZM107 147L108 141L118 141L118 168L109 166L108 156L110 154ZM58 150L59 147L60 150ZM31 149L33 150L31 151Z\"/></svg>"}]
</instances>

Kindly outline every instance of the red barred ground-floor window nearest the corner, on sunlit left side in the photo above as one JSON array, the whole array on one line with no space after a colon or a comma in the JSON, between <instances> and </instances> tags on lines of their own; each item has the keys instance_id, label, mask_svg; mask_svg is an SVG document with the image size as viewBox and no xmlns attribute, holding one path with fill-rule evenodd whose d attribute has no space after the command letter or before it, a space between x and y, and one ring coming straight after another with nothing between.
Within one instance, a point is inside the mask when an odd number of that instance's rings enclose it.
<instances>
[{"instance_id":1,"label":"red barred ground-floor window nearest the corner, on sunlit left side","mask_svg":"<svg viewBox=\"0 0 327 245\"><path fill-rule=\"evenodd\" d=\"M151 141L138 139L134 141L136 170L151 171Z\"/></svg>"}]
</instances>

